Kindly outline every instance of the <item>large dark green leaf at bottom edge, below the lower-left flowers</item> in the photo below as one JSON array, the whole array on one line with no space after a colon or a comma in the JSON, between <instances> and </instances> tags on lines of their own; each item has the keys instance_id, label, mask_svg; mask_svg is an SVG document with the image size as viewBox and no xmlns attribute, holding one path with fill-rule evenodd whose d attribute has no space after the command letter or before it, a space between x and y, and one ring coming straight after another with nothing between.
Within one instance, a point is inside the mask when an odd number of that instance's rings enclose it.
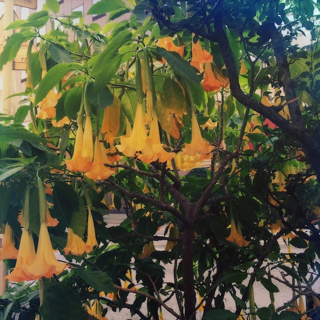
<instances>
[{"instance_id":1,"label":"large dark green leaf at bottom edge, below the lower-left flowers","mask_svg":"<svg viewBox=\"0 0 320 320\"><path fill-rule=\"evenodd\" d=\"M77 290L56 281L43 281L43 302L39 308L44 320L86 320Z\"/></svg>"}]
</instances>

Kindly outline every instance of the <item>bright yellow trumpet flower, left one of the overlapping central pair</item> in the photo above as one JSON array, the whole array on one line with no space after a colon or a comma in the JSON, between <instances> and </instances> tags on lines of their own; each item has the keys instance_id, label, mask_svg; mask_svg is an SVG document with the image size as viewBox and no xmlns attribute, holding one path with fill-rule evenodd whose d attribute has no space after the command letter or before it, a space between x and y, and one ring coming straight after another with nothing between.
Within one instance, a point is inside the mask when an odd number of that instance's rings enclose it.
<instances>
[{"instance_id":1,"label":"bright yellow trumpet flower, left one of the overlapping central pair","mask_svg":"<svg viewBox=\"0 0 320 320\"><path fill-rule=\"evenodd\" d=\"M120 152L128 157L135 155L136 151L141 151L146 145L147 131L145 127L144 111L142 103L138 103L136 106L135 119L131 135L121 136L120 143L117 148Z\"/></svg>"}]
</instances>

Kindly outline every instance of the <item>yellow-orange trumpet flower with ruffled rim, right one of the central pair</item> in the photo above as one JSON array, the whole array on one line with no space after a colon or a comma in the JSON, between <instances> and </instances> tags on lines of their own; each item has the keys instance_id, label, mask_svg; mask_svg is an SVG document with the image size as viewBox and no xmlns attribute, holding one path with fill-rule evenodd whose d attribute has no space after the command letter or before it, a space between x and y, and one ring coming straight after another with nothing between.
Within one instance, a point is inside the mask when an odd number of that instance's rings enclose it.
<instances>
[{"instance_id":1,"label":"yellow-orange trumpet flower with ruffled rim, right one of the central pair","mask_svg":"<svg viewBox=\"0 0 320 320\"><path fill-rule=\"evenodd\" d=\"M144 163L151 163L158 160L159 162L166 162L171 160L174 156L173 152L167 152L161 143L158 120L155 112L153 112L153 119L150 124L149 136L146 139L146 144L138 158Z\"/></svg>"}]
</instances>

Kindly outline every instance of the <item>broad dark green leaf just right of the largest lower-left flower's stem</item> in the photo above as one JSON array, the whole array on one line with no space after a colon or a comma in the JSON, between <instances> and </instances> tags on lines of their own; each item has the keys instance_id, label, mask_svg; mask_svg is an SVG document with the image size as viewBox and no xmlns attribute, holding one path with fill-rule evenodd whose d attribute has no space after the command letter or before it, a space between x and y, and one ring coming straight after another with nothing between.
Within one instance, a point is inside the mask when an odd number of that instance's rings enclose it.
<instances>
[{"instance_id":1,"label":"broad dark green leaf just right of the largest lower-left flower's stem","mask_svg":"<svg viewBox=\"0 0 320 320\"><path fill-rule=\"evenodd\" d=\"M53 203L56 218L61 227L71 224L72 215L79 211L79 199L74 189L62 181L56 181L53 187Z\"/></svg>"}]
</instances>

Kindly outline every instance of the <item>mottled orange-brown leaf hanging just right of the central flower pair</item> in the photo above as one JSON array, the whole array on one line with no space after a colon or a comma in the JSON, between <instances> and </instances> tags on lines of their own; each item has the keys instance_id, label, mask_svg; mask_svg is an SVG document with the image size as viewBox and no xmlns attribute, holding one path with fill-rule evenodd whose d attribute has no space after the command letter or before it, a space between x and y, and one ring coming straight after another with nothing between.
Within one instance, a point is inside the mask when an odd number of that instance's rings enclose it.
<instances>
[{"instance_id":1,"label":"mottled orange-brown leaf hanging just right of the central flower pair","mask_svg":"<svg viewBox=\"0 0 320 320\"><path fill-rule=\"evenodd\" d=\"M155 111L161 127L174 139L179 139L181 124L167 108L162 96L157 100Z\"/></svg>"}]
</instances>

